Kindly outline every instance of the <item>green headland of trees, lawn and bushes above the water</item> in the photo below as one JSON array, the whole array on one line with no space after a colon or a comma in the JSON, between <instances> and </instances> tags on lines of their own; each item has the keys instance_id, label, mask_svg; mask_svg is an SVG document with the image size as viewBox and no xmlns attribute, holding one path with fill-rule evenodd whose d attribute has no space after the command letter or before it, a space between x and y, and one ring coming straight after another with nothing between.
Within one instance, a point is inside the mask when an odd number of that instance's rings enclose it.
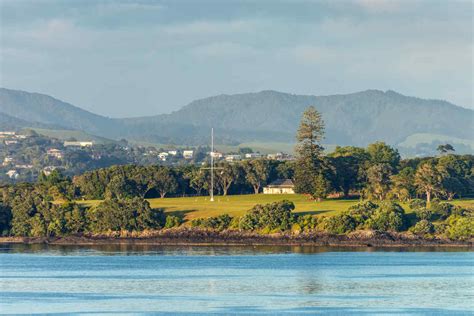
<instances>
[{"instance_id":1,"label":"green headland of trees, lawn and bushes above the water","mask_svg":"<svg viewBox=\"0 0 474 316\"><path fill-rule=\"evenodd\" d=\"M446 144L437 157L401 159L383 142L325 154L323 137L310 107L296 160L219 162L215 185L206 164L54 170L4 185L0 242L472 246L473 155ZM296 194L262 194L278 179Z\"/></svg>"}]
</instances>

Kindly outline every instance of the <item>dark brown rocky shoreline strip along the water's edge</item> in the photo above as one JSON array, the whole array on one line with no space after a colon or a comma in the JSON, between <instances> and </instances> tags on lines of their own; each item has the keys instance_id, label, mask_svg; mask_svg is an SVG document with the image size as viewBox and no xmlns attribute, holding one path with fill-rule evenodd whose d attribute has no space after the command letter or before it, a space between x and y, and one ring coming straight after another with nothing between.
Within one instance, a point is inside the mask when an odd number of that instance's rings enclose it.
<instances>
[{"instance_id":1,"label":"dark brown rocky shoreline strip along the water's edge","mask_svg":"<svg viewBox=\"0 0 474 316\"><path fill-rule=\"evenodd\" d=\"M0 237L0 244L51 245L275 245L275 246L334 246L334 247L474 247L474 241L423 238L410 233L356 231L348 235L327 233L262 235L238 230L213 231L204 229L168 229L152 232L77 235L67 237Z\"/></svg>"}]
</instances>

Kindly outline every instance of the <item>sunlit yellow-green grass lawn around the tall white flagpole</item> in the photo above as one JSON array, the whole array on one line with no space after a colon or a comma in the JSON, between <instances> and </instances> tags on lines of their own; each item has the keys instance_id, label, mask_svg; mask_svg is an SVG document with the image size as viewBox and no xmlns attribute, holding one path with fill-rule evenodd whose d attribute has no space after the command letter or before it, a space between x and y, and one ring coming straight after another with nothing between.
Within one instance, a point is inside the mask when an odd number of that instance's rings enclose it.
<instances>
[{"instance_id":1,"label":"sunlit yellow-green grass lawn around the tall white flagpole","mask_svg":"<svg viewBox=\"0 0 474 316\"><path fill-rule=\"evenodd\" d=\"M290 200L295 204L296 213L308 213L313 215L334 215L347 210L351 205L359 200L328 199L322 202L309 200L300 194L288 195L231 195L216 196L215 201L209 201L209 197L184 197L184 198L164 198L149 199L152 208L161 208L166 213L184 216L191 220L199 217L211 217L227 213L231 216L241 216L256 204L267 204L281 200ZM99 201L83 201L82 204L94 205ZM474 199L462 199L452 201L453 204L473 207ZM407 205L402 204L407 213L410 212Z\"/></svg>"}]
</instances>

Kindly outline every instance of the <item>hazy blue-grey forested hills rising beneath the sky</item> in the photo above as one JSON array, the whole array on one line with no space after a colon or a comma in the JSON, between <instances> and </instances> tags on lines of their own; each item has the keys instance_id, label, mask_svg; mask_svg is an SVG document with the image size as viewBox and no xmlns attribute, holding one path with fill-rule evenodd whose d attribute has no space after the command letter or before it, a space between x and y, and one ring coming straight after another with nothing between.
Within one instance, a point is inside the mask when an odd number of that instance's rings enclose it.
<instances>
[{"instance_id":1,"label":"hazy blue-grey forested hills rising beneath the sky","mask_svg":"<svg viewBox=\"0 0 474 316\"><path fill-rule=\"evenodd\" d=\"M262 91L196 100L179 111L110 119L49 96L0 89L0 112L22 120L61 125L109 138L203 144L209 127L220 142L292 142L303 110L314 105L326 122L326 143L396 145L412 135L474 139L474 111L446 101L367 90L332 96ZM133 106L133 105L130 105Z\"/></svg>"}]
</instances>

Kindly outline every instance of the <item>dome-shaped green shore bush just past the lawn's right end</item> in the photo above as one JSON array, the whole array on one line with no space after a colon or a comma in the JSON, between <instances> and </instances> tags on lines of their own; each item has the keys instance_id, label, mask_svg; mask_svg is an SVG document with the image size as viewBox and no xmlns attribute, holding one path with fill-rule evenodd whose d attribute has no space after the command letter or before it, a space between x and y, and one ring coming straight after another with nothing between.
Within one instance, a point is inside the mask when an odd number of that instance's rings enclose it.
<instances>
[{"instance_id":1,"label":"dome-shaped green shore bush just past the lawn's right end","mask_svg":"<svg viewBox=\"0 0 474 316\"><path fill-rule=\"evenodd\" d=\"M383 202L367 221L367 227L381 231L400 231L404 227L403 208L394 202Z\"/></svg>"}]
</instances>

